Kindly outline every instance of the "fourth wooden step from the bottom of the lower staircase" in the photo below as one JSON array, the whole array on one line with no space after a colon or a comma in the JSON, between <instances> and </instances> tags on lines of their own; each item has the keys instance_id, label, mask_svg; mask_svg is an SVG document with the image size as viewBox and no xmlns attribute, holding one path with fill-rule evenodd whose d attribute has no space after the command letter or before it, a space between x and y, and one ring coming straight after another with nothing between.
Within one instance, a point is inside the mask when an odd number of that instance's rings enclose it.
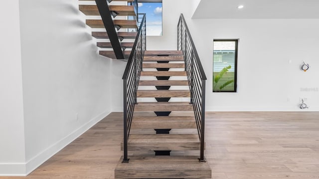
<instances>
[{"instance_id":1,"label":"fourth wooden step from the bottom of the lower staircase","mask_svg":"<svg viewBox=\"0 0 319 179\"><path fill-rule=\"evenodd\" d=\"M134 111L193 111L189 102L139 102Z\"/></svg>"}]
</instances>

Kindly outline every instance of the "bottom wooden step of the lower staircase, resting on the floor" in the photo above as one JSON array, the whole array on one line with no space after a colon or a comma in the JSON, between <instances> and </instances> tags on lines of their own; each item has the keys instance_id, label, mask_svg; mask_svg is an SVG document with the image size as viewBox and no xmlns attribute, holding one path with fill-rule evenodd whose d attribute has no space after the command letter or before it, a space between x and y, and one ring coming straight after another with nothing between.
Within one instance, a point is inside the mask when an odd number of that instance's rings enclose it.
<instances>
[{"instance_id":1,"label":"bottom wooden step of the lower staircase, resting on the floor","mask_svg":"<svg viewBox=\"0 0 319 179\"><path fill-rule=\"evenodd\" d=\"M115 168L115 179L211 179L207 162L198 156L129 156L129 163Z\"/></svg>"}]
</instances>

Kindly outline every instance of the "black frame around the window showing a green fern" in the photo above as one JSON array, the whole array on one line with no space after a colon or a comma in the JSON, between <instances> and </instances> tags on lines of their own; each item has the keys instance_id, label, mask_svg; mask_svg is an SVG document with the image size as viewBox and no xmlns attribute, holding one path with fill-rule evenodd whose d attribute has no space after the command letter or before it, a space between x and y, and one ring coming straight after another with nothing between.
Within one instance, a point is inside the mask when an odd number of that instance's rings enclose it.
<instances>
[{"instance_id":1,"label":"black frame around the window showing a green fern","mask_svg":"<svg viewBox=\"0 0 319 179\"><path fill-rule=\"evenodd\" d=\"M214 83L212 81L213 92L237 92L237 59L238 59L238 40L239 39L213 39L213 58L214 58L214 42L232 42L235 41L235 68L234 68L234 90L214 90ZM213 73L214 73L214 59L213 59ZM214 79L213 79L214 80Z\"/></svg>"}]
</instances>

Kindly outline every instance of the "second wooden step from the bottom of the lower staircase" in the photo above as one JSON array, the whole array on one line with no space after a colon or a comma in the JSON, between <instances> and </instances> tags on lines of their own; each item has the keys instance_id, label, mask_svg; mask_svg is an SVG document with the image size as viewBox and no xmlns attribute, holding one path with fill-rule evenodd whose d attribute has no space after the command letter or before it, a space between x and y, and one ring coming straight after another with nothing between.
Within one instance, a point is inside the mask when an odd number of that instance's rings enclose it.
<instances>
[{"instance_id":1,"label":"second wooden step from the bottom of the lower staircase","mask_svg":"<svg viewBox=\"0 0 319 179\"><path fill-rule=\"evenodd\" d=\"M198 134L130 134L128 141L129 151L199 150L199 147Z\"/></svg>"}]
</instances>

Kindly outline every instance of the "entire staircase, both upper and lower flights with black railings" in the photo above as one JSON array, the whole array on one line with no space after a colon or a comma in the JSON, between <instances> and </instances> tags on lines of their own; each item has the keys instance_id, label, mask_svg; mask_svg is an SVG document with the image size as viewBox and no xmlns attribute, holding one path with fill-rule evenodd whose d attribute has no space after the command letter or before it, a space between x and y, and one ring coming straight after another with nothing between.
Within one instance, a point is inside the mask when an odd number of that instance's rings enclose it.
<instances>
[{"instance_id":1,"label":"entire staircase, both upper and lower flights with black railings","mask_svg":"<svg viewBox=\"0 0 319 179\"><path fill-rule=\"evenodd\" d=\"M99 54L128 59L123 75L124 155L115 179L211 179L204 158L206 76L183 15L178 50L147 51L146 16L138 28L137 0L80 2L86 24L99 40Z\"/></svg>"}]
</instances>

